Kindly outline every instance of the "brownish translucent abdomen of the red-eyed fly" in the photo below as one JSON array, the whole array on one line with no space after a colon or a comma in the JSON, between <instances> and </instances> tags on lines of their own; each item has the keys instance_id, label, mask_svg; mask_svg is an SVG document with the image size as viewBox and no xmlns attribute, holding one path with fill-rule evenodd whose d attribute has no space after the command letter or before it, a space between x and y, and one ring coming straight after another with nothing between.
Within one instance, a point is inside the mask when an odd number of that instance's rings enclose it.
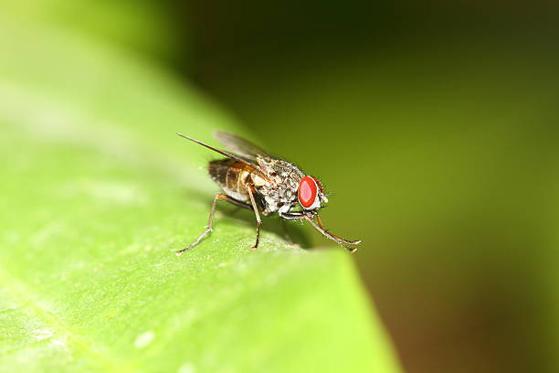
<instances>
[{"instance_id":1,"label":"brownish translucent abdomen of the red-eyed fly","mask_svg":"<svg viewBox=\"0 0 559 373\"><path fill-rule=\"evenodd\" d=\"M248 200L245 183L249 172L242 163L234 159L222 159L210 162L207 169L209 175L227 196L239 201Z\"/></svg>"}]
</instances>

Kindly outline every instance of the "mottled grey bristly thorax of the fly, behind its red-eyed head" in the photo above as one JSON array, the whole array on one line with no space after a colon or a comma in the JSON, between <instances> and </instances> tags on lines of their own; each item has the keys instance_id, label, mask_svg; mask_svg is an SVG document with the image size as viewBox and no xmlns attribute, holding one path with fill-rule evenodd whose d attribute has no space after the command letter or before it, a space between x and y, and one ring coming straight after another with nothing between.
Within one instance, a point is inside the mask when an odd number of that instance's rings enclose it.
<instances>
[{"instance_id":1,"label":"mottled grey bristly thorax of the fly, behind its red-eyed head","mask_svg":"<svg viewBox=\"0 0 559 373\"><path fill-rule=\"evenodd\" d=\"M269 212L286 210L297 204L299 181L304 174L289 162L258 157L258 165L275 183L252 175L252 180Z\"/></svg>"}]
</instances>

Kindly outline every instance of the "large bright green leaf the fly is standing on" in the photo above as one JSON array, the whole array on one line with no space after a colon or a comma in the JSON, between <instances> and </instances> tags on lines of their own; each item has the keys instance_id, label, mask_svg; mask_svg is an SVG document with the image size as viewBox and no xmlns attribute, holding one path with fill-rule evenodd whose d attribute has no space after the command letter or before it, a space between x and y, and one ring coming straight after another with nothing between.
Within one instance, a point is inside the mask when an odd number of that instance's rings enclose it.
<instances>
[{"instance_id":1,"label":"large bright green leaf the fly is standing on","mask_svg":"<svg viewBox=\"0 0 559 373\"><path fill-rule=\"evenodd\" d=\"M0 19L0 371L398 371L350 255L206 224L241 132L161 69Z\"/></svg>"}]
</instances>

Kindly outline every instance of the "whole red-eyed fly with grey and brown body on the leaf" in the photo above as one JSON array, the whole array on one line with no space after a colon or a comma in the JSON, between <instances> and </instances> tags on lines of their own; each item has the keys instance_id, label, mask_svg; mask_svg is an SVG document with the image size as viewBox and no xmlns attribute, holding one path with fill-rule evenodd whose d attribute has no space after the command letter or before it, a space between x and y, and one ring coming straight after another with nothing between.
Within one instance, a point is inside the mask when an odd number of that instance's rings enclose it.
<instances>
[{"instance_id":1,"label":"whole red-eyed fly with grey and brown body on the leaf","mask_svg":"<svg viewBox=\"0 0 559 373\"><path fill-rule=\"evenodd\" d=\"M194 248L213 230L216 202L219 199L254 211L257 229L256 242L251 248L253 250L258 248L262 224L260 213L264 216L278 213L280 218L287 220L307 220L314 229L344 249L350 252L357 250L355 246L361 240L345 240L324 228L319 210L323 203L328 202L328 198L321 182L315 177L305 175L295 165L269 155L257 145L232 133L216 132L216 139L226 147L227 152L185 134L177 134L226 158L211 161L208 165L209 175L223 193L217 193L214 197L206 230L188 247L176 251L176 255Z\"/></svg>"}]
</instances>

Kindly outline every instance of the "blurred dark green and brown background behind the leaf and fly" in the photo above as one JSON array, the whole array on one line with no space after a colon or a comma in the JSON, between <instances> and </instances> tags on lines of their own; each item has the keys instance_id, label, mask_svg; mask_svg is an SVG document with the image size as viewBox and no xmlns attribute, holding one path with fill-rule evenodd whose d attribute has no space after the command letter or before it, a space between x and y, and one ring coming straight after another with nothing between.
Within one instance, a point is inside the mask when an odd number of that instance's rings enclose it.
<instances>
[{"instance_id":1,"label":"blurred dark green and brown background behind the leaf and fly","mask_svg":"<svg viewBox=\"0 0 559 373\"><path fill-rule=\"evenodd\" d=\"M406 371L559 369L558 6L85 4L4 8L194 80L317 176Z\"/></svg>"}]
</instances>

